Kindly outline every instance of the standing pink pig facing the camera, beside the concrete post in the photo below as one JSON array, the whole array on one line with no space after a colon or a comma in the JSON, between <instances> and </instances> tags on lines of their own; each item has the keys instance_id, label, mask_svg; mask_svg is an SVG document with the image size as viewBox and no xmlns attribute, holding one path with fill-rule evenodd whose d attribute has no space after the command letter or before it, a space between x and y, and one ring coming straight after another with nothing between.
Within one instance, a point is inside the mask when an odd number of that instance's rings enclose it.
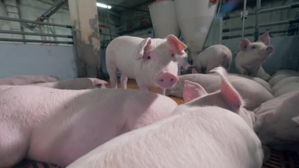
<instances>
[{"instance_id":1,"label":"standing pink pig facing the camera, beside the concrete post","mask_svg":"<svg viewBox=\"0 0 299 168\"><path fill-rule=\"evenodd\" d=\"M128 78L136 79L140 90L158 87L160 94L177 82L178 61L176 55L187 46L175 35L165 39L120 36L111 41L106 49L106 65L112 88L117 88L117 70L120 83L126 88Z\"/></svg>"}]
</instances>

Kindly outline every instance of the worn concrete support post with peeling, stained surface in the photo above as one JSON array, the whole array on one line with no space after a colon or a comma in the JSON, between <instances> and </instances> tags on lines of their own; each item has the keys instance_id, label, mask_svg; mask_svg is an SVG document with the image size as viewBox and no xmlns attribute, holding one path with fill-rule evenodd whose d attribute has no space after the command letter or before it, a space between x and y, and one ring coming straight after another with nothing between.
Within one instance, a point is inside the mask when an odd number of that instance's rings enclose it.
<instances>
[{"instance_id":1,"label":"worn concrete support post with peeling, stained surface","mask_svg":"<svg viewBox=\"0 0 299 168\"><path fill-rule=\"evenodd\" d=\"M96 0L68 0L78 77L101 78Z\"/></svg>"}]
</instances>

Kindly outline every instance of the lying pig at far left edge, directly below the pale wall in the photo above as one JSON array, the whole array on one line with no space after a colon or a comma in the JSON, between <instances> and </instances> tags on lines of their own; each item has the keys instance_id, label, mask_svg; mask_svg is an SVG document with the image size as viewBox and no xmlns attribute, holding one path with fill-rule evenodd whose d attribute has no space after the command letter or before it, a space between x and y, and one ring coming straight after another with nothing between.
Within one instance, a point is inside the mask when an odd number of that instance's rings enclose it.
<instances>
[{"instance_id":1,"label":"lying pig at far left edge, directly below the pale wall","mask_svg":"<svg viewBox=\"0 0 299 168\"><path fill-rule=\"evenodd\" d=\"M54 76L21 75L0 79L0 85L26 85L58 81Z\"/></svg>"}]
</instances>

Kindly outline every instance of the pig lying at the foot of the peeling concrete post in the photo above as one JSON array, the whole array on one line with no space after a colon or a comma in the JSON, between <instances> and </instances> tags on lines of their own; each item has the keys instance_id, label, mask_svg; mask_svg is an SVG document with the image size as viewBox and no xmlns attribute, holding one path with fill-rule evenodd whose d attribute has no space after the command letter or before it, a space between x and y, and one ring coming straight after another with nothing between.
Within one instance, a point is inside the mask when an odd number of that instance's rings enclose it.
<instances>
[{"instance_id":1,"label":"pig lying at the foot of the peeling concrete post","mask_svg":"<svg viewBox=\"0 0 299 168\"><path fill-rule=\"evenodd\" d=\"M40 84L30 84L35 86L43 86L57 89L70 89L70 90L81 90L81 89L91 89L91 88L106 88L106 81L96 79L96 78L76 78L69 79L59 82L48 82Z\"/></svg>"}]
</instances>

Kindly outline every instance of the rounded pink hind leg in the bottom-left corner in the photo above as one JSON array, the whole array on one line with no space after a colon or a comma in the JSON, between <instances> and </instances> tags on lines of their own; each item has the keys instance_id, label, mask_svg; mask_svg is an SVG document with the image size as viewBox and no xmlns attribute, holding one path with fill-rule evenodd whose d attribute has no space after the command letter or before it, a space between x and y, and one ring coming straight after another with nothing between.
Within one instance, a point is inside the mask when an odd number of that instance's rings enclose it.
<instances>
[{"instance_id":1,"label":"rounded pink hind leg in the bottom-left corner","mask_svg":"<svg viewBox=\"0 0 299 168\"><path fill-rule=\"evenodd\" d=\"M0 168L11 167L20 162L27 153L28 139L17 129L0 124ZM3 132L2 132L3 131Z\"/></svg>"}]
</instances>

